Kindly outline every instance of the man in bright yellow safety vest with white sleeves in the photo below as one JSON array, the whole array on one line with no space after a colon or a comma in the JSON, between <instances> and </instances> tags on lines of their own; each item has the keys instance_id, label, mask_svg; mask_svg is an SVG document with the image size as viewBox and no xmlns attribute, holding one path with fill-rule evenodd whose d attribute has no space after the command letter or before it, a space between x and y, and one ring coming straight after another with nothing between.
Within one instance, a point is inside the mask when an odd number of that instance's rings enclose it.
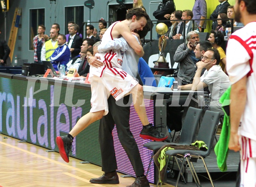
<instances>
[{"instance_id":1,"label":"man in bright yellow safety vest with white sleeves","mask_svg":"<svg viewBox=\"0 0 256 187\"><path fill-rule=\"evenodd\" d=\"M46 41L41 50L42 61L50 61L50 57L52 56L52 53L58 47L57 37L58 37L58 31L56 29L51 29L50 31L51 40Z\"/></svg>"}]
</instances>

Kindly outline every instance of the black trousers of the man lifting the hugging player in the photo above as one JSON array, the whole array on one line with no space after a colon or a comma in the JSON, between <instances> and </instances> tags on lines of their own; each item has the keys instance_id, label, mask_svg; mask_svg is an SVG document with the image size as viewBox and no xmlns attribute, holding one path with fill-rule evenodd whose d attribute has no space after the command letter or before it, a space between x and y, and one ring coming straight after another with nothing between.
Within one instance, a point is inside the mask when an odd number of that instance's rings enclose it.
<instances>
[{"instance_id":1,"label":"black trousers of the man lifting the hugging player","mask_svg":"<svg viewBox=\"0 0 256 187\"><path fill-rule=\"evenodd\" d=\"M136 176L144 175L144 168L140 158L138 145L130 131L129 117L130 104L118 106L118 103L127 104L129 96L117 101L110 96L107 100L109 113L100 120L99 144L102 156L102 171L111 172L117 169L116 154L112 130L116 124L119 141L129 157Z\"/></svg>"}]
</instances>

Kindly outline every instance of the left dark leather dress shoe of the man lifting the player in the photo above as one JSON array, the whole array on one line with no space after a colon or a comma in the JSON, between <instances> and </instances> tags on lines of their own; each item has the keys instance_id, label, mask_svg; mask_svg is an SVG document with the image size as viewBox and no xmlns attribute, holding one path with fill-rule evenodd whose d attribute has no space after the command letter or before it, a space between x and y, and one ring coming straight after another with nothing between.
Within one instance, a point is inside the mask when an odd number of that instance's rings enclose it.
<instances>
[{"instance_id":1,"label":"left dark leather dress shoe of the man lifting the player","mask_svg":"<svg viewBox=\"0 0 256 187\"><path fill-rule=\"evenodd\" d=\"M119 184L117 172L105 172L101 177L90 180L94 184Z\"/></svg>"}]
</instances>

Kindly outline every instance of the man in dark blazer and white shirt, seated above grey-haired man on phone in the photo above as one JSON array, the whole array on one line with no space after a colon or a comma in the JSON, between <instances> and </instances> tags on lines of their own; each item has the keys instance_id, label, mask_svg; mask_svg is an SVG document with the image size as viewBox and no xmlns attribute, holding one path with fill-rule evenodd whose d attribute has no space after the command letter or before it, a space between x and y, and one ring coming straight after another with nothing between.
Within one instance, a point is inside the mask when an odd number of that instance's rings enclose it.
<instances>
[{"instance_id":1,"label":"man in dark blazer and white shirt, seated above grey-haired man on phone","mask_svg":"<svg viewBox=\"0 0 256 187\"><path fill-rule=\"evenodd\" d=\"M187 36L187 33L189 33L190 31L193 30L193 27L194 27L194 30L198 29L198 25L197 23L195 22L194 25L193 25L193 22L190 21L192 20L193 18L193 12L191 10L183 10L182 12L182 19L183 20L186 20L186 25L185 25L185 34L183 33L184 32L184 22L182 25L180 25L180 28L179 28L179 31L181 30L182 31L182 34L176 34L176 37L174 37L174 39L180 39L180 40L183 40L183 37L186 38Z\"/></svg>"}]
</instances>

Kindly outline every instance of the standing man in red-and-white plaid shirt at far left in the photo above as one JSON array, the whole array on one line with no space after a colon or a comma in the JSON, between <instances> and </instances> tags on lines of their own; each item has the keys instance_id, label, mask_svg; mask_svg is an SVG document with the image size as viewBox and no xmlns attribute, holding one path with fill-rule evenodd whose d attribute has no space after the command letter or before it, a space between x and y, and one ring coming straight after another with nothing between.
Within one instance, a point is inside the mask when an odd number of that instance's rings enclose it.
<instances>
[{"instance_id":1,"label":"standing man in red-and-white plaid shirt at far left","mask_svg":"<svg viewBox=\"0 0 256 187\"><path fill-rule=\"evenodd\" d=\"M34 38L33 38L33 46L34 46L34 63L42 63L42 60L41 60L41 50L42 50L42 47L44 45L44 38L43 38L43 35L44 35L44 31L45 31L45 26L44 25L39 25L38 26L38 35L36 35Z\"/></svg>"}]
</instances>

